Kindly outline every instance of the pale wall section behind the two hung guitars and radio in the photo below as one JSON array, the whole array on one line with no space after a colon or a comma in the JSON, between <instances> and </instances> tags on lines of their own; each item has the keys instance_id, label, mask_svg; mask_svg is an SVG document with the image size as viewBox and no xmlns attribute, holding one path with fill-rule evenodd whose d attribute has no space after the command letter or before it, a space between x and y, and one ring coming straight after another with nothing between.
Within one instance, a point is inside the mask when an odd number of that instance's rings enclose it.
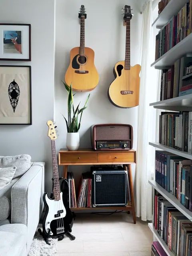
<instances>
[{"instance_id":1,"label":"pale wall section behind the two hung guitars and radio","mask_svg":"<svg viewBox=\"0 0 192 256\"><path fill-rule=\"evenodd\" d=\"M114 80L113 68L116 62L124 60L125 33L122 6L124 0L56 0L56 59L55 59L55 120L60 137L56 141L57 150L66 147L66 125L61 113L67 116L67 93L62 85L64 74L70 61L70 49L80 44L80 23L78 9L84 4L87 11L85 21L85 44L95 52L95 65L100 82L91 92L89 108L84 111L80 128L80 147L91 147L90 126L98 123L127 123L133 126L134 144L137 145L138 108L122 109L108 100L107 91ZM140 37L142 1L130 0L134 16L131 20L131 66L140 62ZM84 101L88 92L77 93L74 101ZM134 166L133 166L134 168ZM75 174L87 170L85 166L71 167Z\"/></svg>"}]
</instances>

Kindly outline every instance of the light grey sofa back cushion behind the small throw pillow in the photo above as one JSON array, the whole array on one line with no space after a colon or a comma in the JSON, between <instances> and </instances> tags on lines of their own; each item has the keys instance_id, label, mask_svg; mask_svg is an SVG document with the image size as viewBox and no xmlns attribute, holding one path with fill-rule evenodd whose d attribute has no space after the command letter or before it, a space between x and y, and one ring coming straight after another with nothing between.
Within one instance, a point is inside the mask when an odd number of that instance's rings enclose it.
<instances>
[{"instance_id":1,"label":"light grey sofa back cushion behind the small throw pillow","mask_svg":"<svg viewBox=\"0 0 192 256\"><path fill-rule=\"evenodd\" d=\"M0 167L16 166L16 172L13 178L21 177L31 167L31 156L18 155L18 156L0 156Z\"/></svg>"}]
</instances>

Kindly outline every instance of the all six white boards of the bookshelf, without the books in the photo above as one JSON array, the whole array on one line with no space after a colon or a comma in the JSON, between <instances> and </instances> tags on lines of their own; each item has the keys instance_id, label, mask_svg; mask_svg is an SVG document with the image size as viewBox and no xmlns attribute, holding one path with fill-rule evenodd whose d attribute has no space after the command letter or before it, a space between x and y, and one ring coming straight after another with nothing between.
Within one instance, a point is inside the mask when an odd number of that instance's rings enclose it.
<instances>
[{"instance_id":1,"label":"all six white boards of the bookshelf, without the books","mask_svg":"<svg viewBox=\"0 0 192 256\"><path fill-rule=\"evenodd\" d=\"M154 20L152 26L156 26L156 28L162 29L177 13L180 9L189 2L188 0L170 0L164 10L160 13L160 15ZM154 39L155 40L155 39ZM186 38L172 47L168 52L163 54L160 58L155 60L151 67L156 69L164 69L169 68L171 65L174 65L174 62L181 58L182 56L192 56L192 33L189 34ZM183 77L182 79L185 79ZM157 109L162 110L170 110L170 111L192 111L192 94L186 96L180 96L168 100L162 100L158 102L153 102L150 104ZM180 150L176 150L175 148L162 145L158 142L149 142L149 145L158 148L160 150L165 150L172 154L176 154L178 156L182 156L184 158L192 160L192 154L188 152L183 152ZM192 212L186 209L175 196L166 191L162 186L160 186L155 180L149 180L149 184L157 190L166 200L168 200L174 207L176 207L184 216L186 216L189 220L192 220ZM152 223L148 224L150 230L154 234L154 237L163 247L164 251L169 256L174 256L172 252L170 252L168 246L164 242L164 240L160 237L157 230L155 230Z\"/></svg>"}]
</instances>

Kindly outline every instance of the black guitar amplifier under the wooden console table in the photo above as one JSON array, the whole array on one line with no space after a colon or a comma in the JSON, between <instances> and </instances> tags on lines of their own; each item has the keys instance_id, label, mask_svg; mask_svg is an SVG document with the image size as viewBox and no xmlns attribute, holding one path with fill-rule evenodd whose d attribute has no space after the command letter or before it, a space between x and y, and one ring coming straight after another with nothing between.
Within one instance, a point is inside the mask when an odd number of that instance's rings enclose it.
<instances>
[{"instance_id":1,"label":"black guitar amplifier under the wooden console table","mask_svg":"<svg viewBox=\"0 0 192 256\"><path fill-rule=\"evenodd\" d=\"M128 203L128 174L121 167L91 168L93 207L126 206Z\"/></svg>"}]
</instances>

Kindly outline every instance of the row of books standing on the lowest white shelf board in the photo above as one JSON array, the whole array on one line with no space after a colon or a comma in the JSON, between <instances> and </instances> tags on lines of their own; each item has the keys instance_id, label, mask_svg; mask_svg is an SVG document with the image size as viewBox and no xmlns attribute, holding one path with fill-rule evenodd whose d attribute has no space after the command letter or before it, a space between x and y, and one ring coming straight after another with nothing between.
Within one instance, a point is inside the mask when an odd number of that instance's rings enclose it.
<instances>
[{"instance_id":1,"label":"row of books standing on the lowest white shelf board","mask_svg":"<svg viewBox=\"0 0 192 256\"><path fill-rule=\"evenodd\" d=\"M192 222L156 190L154 228L175 256L192 255Z\"/></svg>"}]
</instances>

